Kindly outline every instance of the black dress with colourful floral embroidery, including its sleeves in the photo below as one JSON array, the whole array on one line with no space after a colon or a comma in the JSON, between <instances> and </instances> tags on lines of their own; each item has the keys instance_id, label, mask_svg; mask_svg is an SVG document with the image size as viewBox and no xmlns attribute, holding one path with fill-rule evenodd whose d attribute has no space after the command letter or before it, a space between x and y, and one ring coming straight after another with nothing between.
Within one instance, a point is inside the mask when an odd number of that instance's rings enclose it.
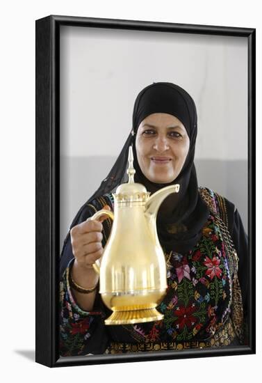
<instances>
[{"instance_id":1,"label":"black dress with colourful floral embroidery, including its sleeves","mask_svg":"<svg viewBox=\"0 0 262 383\"><path fill-rule=\"evenodd\" d=\"M200 188L199 192L210 208L202 237L187 253L167 253L163 249L168 288L158 306L164 319L158 322L105 326L104 319L110 310L98 292L93 311L83 311L69 286L74 256L67 235L60 257L61 356L181 350L247 342L243 339L241 322L242 308L244 318L247 316L247 235L233 203L210 189ZM104 205L110 205L113 210L112 194L84 205L75 224L85 221ZM103 246L110 225L109 219L103 223ZM237 267L243 306L237 293Z\"/></svg>"}]
</instances>

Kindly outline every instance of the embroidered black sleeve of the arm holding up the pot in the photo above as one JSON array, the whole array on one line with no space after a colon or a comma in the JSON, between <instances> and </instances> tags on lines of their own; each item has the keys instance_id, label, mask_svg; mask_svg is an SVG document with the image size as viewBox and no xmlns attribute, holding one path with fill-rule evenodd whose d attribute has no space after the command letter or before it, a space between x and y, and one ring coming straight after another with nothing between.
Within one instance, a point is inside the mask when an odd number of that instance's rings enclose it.
<instances>
[{"instance_id":1,"label":"embroidered black sleeve of the arm holding up the pot","mask_svg":"<svg viewBox=\"0 0 262 383\"><path fill-rule=\"evenodd\" d=\"M72 226L85 221L104 205L110 205L113 209L109 195L85 205L76 215ZM110 224L109 219L103 222L103 246L110 233ZM72 245L67 235L60 256L60 355L102 354L108 341L104 325L106 307L98 292L92 312L83 311L77 304L68 281L69 265L73 259Z\"/></svg>"}]
</instances>

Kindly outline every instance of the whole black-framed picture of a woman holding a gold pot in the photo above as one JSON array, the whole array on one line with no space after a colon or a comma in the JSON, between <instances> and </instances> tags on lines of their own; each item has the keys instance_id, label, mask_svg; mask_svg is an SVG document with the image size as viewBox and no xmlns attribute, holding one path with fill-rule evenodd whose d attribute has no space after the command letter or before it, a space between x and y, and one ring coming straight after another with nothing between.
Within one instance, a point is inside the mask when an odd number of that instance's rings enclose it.
<instances>
[{"instance_id":1,"label":"whole black-framed picture of a woman holding a gold pot","mask_svg":"<svg viewBox=\"0 0 262 383\"><path fill-rule=\"evenodd\" d=\"M38 363L255 353L255 36L36 21Z\"/></svg>"}]
</instances>

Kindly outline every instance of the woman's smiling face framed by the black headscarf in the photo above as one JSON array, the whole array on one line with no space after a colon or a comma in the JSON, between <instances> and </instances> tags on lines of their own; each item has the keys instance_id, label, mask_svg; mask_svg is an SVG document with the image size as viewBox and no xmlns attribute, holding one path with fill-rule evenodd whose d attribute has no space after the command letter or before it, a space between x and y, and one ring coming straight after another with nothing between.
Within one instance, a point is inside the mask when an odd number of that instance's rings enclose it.
<instances>
[{"instance_id":1,"label":"woman's smiling face framed by the black headscarf","mask_svg":"<svg viewBox=\"0 0 262 383\"><path fill-rule=\"evenodd\" d=\"M147 116L138 127L136 153L142 173L155 183L169 183L179 175L190 139L181 121L166 113Z\"/></svg>"}]
</instances>

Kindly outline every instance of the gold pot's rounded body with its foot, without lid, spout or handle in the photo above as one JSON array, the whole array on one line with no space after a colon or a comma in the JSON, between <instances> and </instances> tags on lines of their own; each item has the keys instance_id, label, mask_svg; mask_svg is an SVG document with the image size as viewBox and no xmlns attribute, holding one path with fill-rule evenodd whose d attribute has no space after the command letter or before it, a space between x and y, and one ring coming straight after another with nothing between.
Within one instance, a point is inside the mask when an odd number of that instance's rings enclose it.
<instances>
[{"instance_id":1,"label":"gold pot's rounded body with its foot, without lid, spout or handle","mask_svg":"<svg viewBox=\"0 0 262 383\"><path fill-rule=\"evenodd\" d=\"M145 203L115 203L100 265L100 294L113 315L107 325L161 320L156 306L167 289L165 256Z\"/></svg>"}]
</instances>

